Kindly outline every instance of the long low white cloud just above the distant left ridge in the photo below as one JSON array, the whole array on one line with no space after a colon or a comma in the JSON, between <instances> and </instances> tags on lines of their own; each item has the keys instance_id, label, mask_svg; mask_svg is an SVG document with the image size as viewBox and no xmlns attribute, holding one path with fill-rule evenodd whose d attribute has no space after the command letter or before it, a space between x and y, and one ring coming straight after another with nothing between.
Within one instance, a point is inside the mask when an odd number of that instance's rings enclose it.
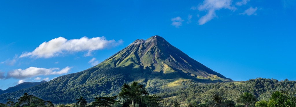
<instances>
[{"instance_id":1,"label":"long low white cloud just above the distant left ridge","mask_svg":"<svg viewBox=\"0 0 296 107\"><path fill-rule=\"evenodd\" d=\"M28 77L34 77L38 75L57 75L57 74L66 74L70 71L71 67L65 67L62 70L59 68L37 68L29 67L27 69L15 69L13 71L7 72L7 78L17 78L24 79Z\"/></svg>"}]
</instances>

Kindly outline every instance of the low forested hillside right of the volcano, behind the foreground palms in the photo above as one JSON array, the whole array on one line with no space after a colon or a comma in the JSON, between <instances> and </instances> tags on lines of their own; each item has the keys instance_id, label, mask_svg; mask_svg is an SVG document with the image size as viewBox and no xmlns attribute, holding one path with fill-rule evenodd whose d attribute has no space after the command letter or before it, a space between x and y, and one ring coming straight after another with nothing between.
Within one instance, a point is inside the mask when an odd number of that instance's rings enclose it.
<instances>
[{"instance_id":1,"label":"low forested hillside right of the volcano, behind the foreground palms","mask_svg":"<svg viewBox=\"0 0 296 107\"><path fill-rule=\"evenodd\" d=\"M240 94L249 92L254 94L257 100L268 100L275 91L286 91L296 95L295 89L296 81L257 78L240 82L197 83L176 92L163 92L157 95L176 102L207 103L213 94L221 94L227 100L236 101Z\"/></svg>"}]
</instances>

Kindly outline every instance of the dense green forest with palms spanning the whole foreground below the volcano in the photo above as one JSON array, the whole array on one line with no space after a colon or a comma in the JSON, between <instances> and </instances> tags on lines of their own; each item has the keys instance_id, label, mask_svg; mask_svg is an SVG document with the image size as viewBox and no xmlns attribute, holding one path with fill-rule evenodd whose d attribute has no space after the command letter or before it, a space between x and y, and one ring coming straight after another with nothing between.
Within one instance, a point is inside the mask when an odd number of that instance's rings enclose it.
<instances>
[{"instance_id":1,"label":"dense green forest with palms spanning the whole foreground below the volcano","mask_svg":"<svg viewBox=\"0 0 296 107\"><path fill-rule=\"evenodd\" d=\"M177 91L149 94L145 86L123 84L115 96L101 96L88 101L85 96L70 104L44 101L25 93L17 100L7 99L0 106L39 107L295 107L296 81L256 78L240 82L196 83ZM41 103L34 103L38 102Z\"/></svg>"}]
</instances>

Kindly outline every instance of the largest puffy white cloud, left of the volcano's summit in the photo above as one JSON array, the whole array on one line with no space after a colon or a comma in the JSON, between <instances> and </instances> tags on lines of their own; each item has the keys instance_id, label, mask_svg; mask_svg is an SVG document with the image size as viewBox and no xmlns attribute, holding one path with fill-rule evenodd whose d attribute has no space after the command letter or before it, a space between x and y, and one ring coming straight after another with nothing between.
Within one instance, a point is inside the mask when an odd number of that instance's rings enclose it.
<instances>
[{"instance_id":1,"label":"largest puffy white cloud, left of the volcano's summit","mask_svg":"<svg viewBox=\"0 0 296 107\"><path fill-rule=\"evenodd\" d=\"M59 56L64 53L73 53L79 51L91 51L118 46L123 43L123 40L106 40L103 37L87 38L82 37L80 39L67 40L66 38L59 37L43 42L32 52L24 52L20 55L22 57L36 57L36 58L50 58Z\"/></svg>"}]
</instances>

